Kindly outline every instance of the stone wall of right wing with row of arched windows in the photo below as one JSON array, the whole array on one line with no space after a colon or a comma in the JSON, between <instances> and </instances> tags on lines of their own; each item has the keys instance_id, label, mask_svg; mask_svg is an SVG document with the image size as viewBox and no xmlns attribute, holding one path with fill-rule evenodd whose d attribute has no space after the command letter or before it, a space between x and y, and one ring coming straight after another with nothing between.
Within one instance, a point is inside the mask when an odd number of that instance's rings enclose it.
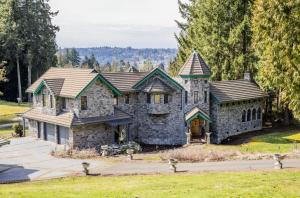
<instances>
[{"instance_id":1,"label":"stone wall of right wing with row of arched windows","mask_svg":"<svg viewBox=\"0 0 300 198\"><path fill-rule=\"evenodd\" d=\"M252 119L252 110L263 110L263 100L243 101L227 104L212 102L211 108L211 131L212 141L221 143L222 140L249 131L262 129L262 115L260 119ZM251 120L242 122L243 110L251 110ZM257 116L256 116L257 117Z\"/></svg>"}]
</instances>

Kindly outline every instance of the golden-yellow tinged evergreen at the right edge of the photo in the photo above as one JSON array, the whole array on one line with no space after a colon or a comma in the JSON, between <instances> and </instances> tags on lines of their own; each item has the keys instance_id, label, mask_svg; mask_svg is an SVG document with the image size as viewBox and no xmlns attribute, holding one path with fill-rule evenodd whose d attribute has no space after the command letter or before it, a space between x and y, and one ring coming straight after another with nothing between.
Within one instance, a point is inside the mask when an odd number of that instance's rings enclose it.
<instances>
[{"instance_id":1,"label":"golden-yellow tinged evergreen at the right edge of the photo","mask_svg":"<svg viewBox=\"0 0 300 198\"><path fill-rule=\"evenodd\" d=\"M289 109L300 119L300 2L257 0L252 27L259 84L279 92L286 124Z\"/></svg>"}]
</instances>

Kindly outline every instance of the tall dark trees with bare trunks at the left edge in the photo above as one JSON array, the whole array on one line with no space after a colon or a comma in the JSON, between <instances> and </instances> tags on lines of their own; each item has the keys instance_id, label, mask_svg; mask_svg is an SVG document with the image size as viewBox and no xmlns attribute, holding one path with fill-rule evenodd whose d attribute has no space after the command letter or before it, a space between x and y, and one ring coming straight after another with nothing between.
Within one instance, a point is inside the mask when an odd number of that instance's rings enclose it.
<instances>
[{"instance_id":1,"label":"tall dark trees with bare trunks at the left edge","mask_svg":"<svg viewBox=\"0 0 300 198\"><path fill-rule=\"evenodd\" d=\"M52 12L47 0L0 1L0 85L6 99L23 100L25 87L50 66L56 65L55 35L59 28L52 24ZM27 76L27 78L25 77ZM17 82L17 83L15 83ZM18 92L12 91L17 90ZM30 94L27 96L30 100Z\"/></svg>"}]
</instances>

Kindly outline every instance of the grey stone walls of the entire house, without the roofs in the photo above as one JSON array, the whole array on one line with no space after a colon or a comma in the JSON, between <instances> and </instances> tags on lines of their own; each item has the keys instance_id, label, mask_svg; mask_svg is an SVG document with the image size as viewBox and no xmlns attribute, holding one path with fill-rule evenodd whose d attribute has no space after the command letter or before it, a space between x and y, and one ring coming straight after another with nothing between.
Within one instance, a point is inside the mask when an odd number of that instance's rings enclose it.
<instances>
[{"instance_id":1,"label":"grey stone walls of the entire house, without the roofs","mask_svg":"<svg viewBox=\"0 0 300 198\"><path fill-rule=\"evenodd\" d=\"M153 83L155 80L155 83ZM40 108L48 115L58 115L61 112L72 112L74 117L93 118L106 117L114 114L115 107L132 116L129 125L111 126L109 124L82 124L70 126L69 143L74 148L92 148L103 144L115 143L117 133L125 131L126 140L134 140L143 144L154 145L183 145L187 143L186 132L190 131L190 124L185 116L193 108L198 107L205 114L210 115L211 123L203 120L205 132L212 132L212 141L220 143L229 136L262 128L262 115L257 112L263 110L263 100L238 101L235 103L219 104L210 100L210 83L208 77L178 78L178 86L172 79L161 74L155 74L145 80L134 91L124 92L117 97L100 81L92 83L77 98L65 98L65 108L62 97L53 97L50 108L51 91L44 87L40 94L33 97L33 107ZM153 88L155 86L155 89ZM154 91L153 91L154 90ZM42 94L46 105L43 107ZM87 98L87 109L81 108L81 97ZM251 111L251 119L243 121L243 112ZM255 119L252 116L255 109ZM192 112L192 111L191 111ZM247 114L247 113L246 113ZM193 118L194 119L194 118ZM205 119L205 118L204 118ZM43 139L44 123L41 122L41 139ZM198 126L197 126L198 127ZM202 129L201 128L201 129ZM37 122L29 121L29 130L37 134ZM55 127L55 138L56 137Z\"/></svg>"}]
</instances>

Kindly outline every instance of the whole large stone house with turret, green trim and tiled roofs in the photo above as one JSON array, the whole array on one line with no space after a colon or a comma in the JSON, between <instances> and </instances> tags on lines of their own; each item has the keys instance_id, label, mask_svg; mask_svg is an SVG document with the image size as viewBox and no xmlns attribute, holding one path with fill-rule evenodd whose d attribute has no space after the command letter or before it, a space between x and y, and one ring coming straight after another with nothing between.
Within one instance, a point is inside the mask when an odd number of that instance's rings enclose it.
<instances>
[{"instance_id":1,"label":"whole large stone house with turret, green trim and tiled roofs","mask_svg":"<svg viewBox=\"0 0 300 198\"><path fill-rule=\"evenodd\" d=\"M161 68L98 73L93 69L50 68L27 92L33 107L24 118L39 139L73 148L119 141L183 145L220 143L262 128L266 94L243 80L209 82L211 75L193 52L176 78Z\"/></svg>"}]
</instances>

